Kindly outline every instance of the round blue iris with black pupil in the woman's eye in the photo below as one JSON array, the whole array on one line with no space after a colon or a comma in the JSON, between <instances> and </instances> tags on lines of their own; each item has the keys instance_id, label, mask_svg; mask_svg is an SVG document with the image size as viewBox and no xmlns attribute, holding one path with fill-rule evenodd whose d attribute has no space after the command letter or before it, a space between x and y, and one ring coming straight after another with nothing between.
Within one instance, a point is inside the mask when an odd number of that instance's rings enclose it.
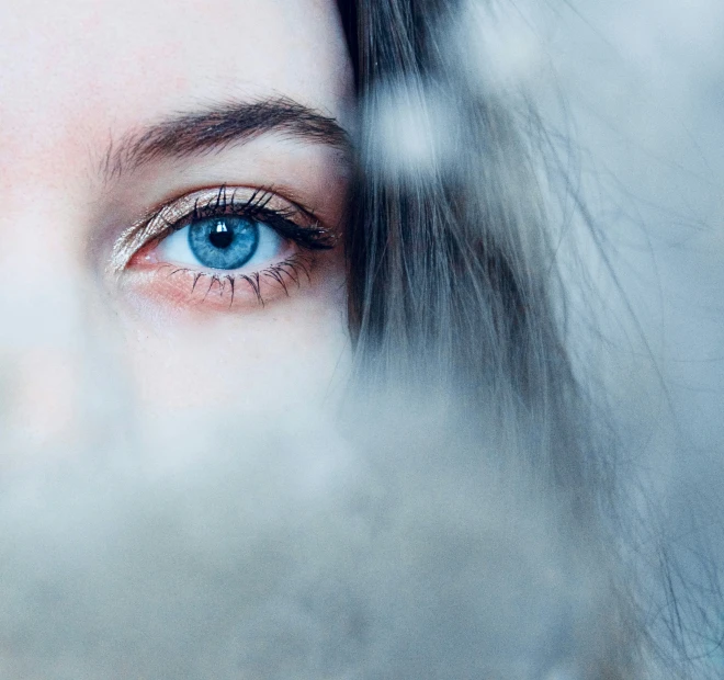
<instances>
[{"instance_id":1,"label":"round blue iris with black pupil in the woman's eye","mask_svg":"<svg viewBox=\"0 0 724 680\"><path fill-rule=\"evenodd\" d=\"M244 217L208 217L189 225L189 248L211 269L238 269L258 246L259 227Z\"/></svg>"}]
</instances>

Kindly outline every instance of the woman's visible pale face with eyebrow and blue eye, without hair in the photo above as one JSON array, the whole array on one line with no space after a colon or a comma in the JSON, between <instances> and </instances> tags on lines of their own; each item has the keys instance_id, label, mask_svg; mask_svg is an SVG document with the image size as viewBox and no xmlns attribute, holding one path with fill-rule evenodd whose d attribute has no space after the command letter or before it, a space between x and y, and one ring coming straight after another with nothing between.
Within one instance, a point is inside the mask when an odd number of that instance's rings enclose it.
<instances>
[{"instance_id":1,"label":"woman's visible pale face with eyebrow and blue eye, without hair","mask_svg":"<svg viewBox=\"0 0 724 680\"><path fill-rule=\"evenodd\" d=\"M333 401L352 73L332 0L31 0L0 25L5 463L118 408L181 434Z\"/></svg>"}]
</instances>

